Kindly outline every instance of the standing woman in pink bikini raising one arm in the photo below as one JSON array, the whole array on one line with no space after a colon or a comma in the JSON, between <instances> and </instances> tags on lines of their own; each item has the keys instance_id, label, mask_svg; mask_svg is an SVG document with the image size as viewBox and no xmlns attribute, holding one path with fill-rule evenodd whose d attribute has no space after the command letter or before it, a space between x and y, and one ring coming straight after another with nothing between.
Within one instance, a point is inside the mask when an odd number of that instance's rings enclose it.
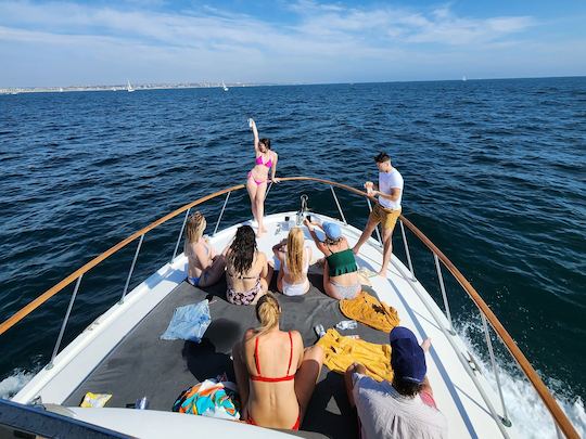
<instances>
[{"instance_id":1,"label":"standing woman in pink bikini raising one arm","mask_svg":"<svg viewBox=\"0 0 586 439\"><path fill-rule=\"evenodd\" d=\"M279 182L279 179L275 177L277 172L277 160L279 156L276 152L270 151L270 139L258 139L258 130L253 119L249 119L251 129L254 134L254 152L256 154L256 160L254 168L249 172L246 179L246 190L251 197L251 210L254 219L258 222L258 235L266 233L266 229L263 224L263 217L265 216L265 194L267 192L267 182L269 180L269 170L271 170L270 180L275 183Z\"/></svg>"}]
</instances>

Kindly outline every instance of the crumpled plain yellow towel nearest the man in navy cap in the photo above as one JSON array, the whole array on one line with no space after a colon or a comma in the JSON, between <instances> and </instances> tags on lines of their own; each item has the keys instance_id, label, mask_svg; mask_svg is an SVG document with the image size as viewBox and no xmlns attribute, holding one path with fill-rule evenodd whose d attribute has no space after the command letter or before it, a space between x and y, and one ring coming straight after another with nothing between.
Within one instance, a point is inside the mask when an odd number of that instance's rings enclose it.
<instances>
[{"instance_id":1,"label":"crumpled plain yellow towel nearest the man in navy cap","mask_svg":"<svg viewBox=\"0 0 586 439\"><path fill-rule=\"evenodd\" d=\"M352 363L357 362L364 364L367 374L378 382L393 380L390 345L344 337L333 328L328 330L317 345L326 352L323 364L330 371L343 374Z\"/></svg>"}]
</instances>

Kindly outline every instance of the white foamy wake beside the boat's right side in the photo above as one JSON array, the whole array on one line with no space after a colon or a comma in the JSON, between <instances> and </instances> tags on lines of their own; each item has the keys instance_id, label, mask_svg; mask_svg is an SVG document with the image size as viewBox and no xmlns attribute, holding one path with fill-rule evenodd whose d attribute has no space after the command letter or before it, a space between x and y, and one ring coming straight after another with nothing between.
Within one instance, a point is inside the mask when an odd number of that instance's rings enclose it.
<instances>
[{"instance_id":1,"label":"white foamy wake beside the boat's right side","mask_svg":"<svg viewBox=\"0 0 586 439\"><path fill-rule=\"evenodd\" d=\"M479 353L485 351L486 345L474 341L484 339L482 324L480 322L477 324L460 322L457 326L458 333L468 346L469 351L475 357L483 375L495 393L497 393L495 374L488 365L489 360L484 354ZM502 395L512 424L526 438L558 438L551 415L533 386L517 367L512 357L497 358L497 362ZM546 386L576 428L579 437L586 437L586 411L582 398L576 397L569 385L560 380L546 379ZM496 404L495 409L498 413L502 411L500 404Z\"/></svg>"}]
</instances>

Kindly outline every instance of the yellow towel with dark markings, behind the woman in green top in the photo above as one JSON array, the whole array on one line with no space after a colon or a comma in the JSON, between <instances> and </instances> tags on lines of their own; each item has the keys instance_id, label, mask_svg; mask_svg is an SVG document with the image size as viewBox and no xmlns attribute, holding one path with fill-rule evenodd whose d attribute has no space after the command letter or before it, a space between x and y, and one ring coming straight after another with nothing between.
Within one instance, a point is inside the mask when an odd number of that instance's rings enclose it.
<instances>
[{"instance_id":1,"label":"yellow towel with dark markings, behind the woman in green top","mask_svg":"<svg viewBox=\"0 0 586 439\"><path fill-rule=\"evenodd\" d=\"M354 299L340 300L340 311L349 319L390 333L399 324L397 310L366 292Z\"/></svg>"}]
</instances>

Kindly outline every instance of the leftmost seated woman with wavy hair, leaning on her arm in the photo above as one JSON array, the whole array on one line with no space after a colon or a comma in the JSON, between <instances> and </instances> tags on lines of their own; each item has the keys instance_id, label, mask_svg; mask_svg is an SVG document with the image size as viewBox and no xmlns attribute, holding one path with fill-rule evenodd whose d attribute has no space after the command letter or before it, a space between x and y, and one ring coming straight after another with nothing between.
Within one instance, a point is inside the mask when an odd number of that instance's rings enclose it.
<instances>
[{"instance_id":1,"label":"leftmost seated woman with wavy hair, leaning on her arm","mask_svg":"<svg viewBox=\"0 0 586 439\"><path fill-rule=\"evenodd\" d=\"M199 211L191 215L186 224L183 253L188 258L187 281L198 287L217 283L226 268L224 255L216 255L214 247L203 237L206 225L205 217Z\"/></svg>"}]
</instances>

